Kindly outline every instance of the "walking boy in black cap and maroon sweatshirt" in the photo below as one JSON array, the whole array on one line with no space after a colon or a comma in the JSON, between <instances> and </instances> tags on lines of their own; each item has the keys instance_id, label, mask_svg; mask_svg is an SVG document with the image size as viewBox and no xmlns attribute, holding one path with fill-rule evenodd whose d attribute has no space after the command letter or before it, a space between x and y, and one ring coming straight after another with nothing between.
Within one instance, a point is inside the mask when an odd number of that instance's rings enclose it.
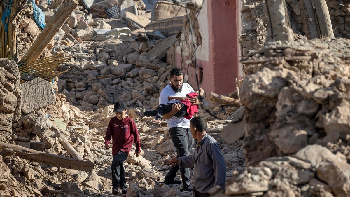
<instances>
[{"instance_id":1,"label":"walking boy in black cap and maroon sweatshirt","mask_svg":"<svg viewBox=\"0 0 350 197\"><path fill-rule=\"evenodd\" d=\"M106 131L105 136L105 148L110 148L110 141L112 139L112 194L117 195L119 193L118 187L121 192L126 194L127 186L124 175L123 162L129 155L132 143L135 142L136 150L135 156L141 155L140 137L137 131L135 122L129 116L125 116L127 112L126 103L118 101L114 104L113 112L116 116L113 117Z\"/></svg>"}]
</instances>

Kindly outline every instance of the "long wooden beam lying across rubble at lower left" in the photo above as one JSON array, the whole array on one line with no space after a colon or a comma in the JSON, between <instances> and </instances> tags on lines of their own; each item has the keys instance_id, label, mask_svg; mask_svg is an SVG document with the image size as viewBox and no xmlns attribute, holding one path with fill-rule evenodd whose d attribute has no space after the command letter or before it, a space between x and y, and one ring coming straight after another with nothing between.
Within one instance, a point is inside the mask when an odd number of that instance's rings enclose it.
<instances>
[{"instance_id":1,"label":"long wooden beam lying across rubble at lower left","mask_svg":"<svg viewBox=\"0 0 350 197\"><path fill-rule=\"evenodd\" d=\"M32 162L54 165L54 166L63 167L67 169L82 170L85 172L90 172L93 169L93 162L90 162L90 161L84 161L80 159L54 155L47 152L41 152L41 151L21 147L19 145L0 142L0 150L9 149L9 148L15 151L16 156L19 156L22 159L27 159Z\"/></svg>"}]
</instances>

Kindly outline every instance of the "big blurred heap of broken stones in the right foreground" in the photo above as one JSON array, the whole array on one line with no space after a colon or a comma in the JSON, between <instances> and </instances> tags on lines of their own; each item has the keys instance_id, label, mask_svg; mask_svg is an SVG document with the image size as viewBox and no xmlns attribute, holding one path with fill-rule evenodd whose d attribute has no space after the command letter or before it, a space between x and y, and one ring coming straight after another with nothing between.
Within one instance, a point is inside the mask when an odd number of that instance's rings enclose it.
<instances>
[{"instance_id":1,"label":"big blurred heap of broken stones in the right foreground","mask_svg":"<svg viewBox=\"0 0 350 197\"><path fill-rule=\"evenodd\" d=\"M246 171L226 194L349 196L348 39L267 46L241 61L259 64L240 97Z\"/></svg>"}]
</instances>

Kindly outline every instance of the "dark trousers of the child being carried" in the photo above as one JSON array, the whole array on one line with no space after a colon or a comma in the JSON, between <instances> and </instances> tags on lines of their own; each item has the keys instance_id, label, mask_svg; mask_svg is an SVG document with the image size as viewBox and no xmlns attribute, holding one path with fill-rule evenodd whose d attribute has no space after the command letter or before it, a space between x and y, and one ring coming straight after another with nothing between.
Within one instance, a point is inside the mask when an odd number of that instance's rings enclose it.
<instances>
[{"instance_id":1,"label":"dark trousers of the child being carried","mask_svg":"<svg viewBox=\"0 0 350 197\"><path fill-rule=\"evenodd\" d=\"M180 111L174 114L175 117L184 117L187 115L187 106L179 102L181 105ZM145 112L145 116L155 116L156 120L162 120L163 114L166 114L172 110L174 103L160 104L156 110L149 110Z\"/></svg>"}]
</instances>

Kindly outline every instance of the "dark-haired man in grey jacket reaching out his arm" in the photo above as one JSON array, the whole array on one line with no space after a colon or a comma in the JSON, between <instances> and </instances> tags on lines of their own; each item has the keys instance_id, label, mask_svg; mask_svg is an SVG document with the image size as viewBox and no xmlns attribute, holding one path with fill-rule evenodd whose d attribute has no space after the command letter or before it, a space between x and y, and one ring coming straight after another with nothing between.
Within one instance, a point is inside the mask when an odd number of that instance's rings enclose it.
<instances>
[{"instance_id":1,"label":"dark-haired man in grey jacket reaching out his arm","mask_svg":"<svg viewBox=\"0 0 350 197\"><path fill-rule=\"evenodd\" d=\"M207 197L214 186L225 189L226 163L219 143L206 132L207 121L204 118L192 118L190 129L193 138L198 140L195 154L172 158L167 163L180 168L194 168L193 196Z\"/></svg>"}]
</instances>

